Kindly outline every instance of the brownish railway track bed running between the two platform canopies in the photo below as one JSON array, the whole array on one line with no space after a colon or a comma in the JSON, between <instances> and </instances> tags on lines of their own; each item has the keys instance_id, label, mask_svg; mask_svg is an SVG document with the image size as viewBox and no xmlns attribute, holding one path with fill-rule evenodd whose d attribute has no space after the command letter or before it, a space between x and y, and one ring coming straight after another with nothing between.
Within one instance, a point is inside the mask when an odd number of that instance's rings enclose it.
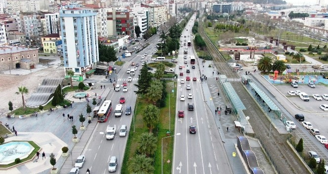
<instances>
[{"instance_id":1,"label":"brownish railway track bed running between the two platform canopies","mask_svg":"<svg viewBox=\"0 0 328 174\"><path fill-rule=\"evenodd\" d=\"M202 17L200 17L202 19ZM216 68L221 74L225 74L229 79L239 79L237 73L232 72L228 64L221 56L219 51L205 34L203 21L199 20L199 32L203 37L206 48L213 58ZM278 174L307 174L308 170L298 159L287 144L286 136L281 135L275 128L271 130L269 138L270 120L264 116L256 101L248 94L240 81L230 81L241 101L246 107L245 116L249 116L255 138L259 139L270 161L273 163Z\"/></svg>"}]
</instances>

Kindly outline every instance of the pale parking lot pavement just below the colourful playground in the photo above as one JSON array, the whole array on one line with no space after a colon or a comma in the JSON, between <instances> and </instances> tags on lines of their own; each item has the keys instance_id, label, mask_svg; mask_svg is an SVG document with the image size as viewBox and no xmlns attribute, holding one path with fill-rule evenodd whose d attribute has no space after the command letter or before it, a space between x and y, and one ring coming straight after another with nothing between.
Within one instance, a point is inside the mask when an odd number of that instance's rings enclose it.
<instances>
[{"instance_id":1,"label":"pale parking lot pavement just below the colourful playground","mask_svg":"<svg viewBox=\"0 0 328 174\"><path fill-rule=\"evenodd\" d=\"M307 111L307 112L322 112L322 114L328 114L328 112L324 112L320 109L320 105L328 104L328 101L322 100L317 101L312 97L313 94L321 95L324 92L328 93L328 88L323 85L316 85L315 88L310 88L307 85L298 85L298 87L293 88L290 85L275 85L275 87L280 90L287 98L294 103L298 108ZM289 90L300 90L301 92L305 92L309 95L310 101L303 101L299 96L290 96L288 95Z\"/></svg>"}]
</instances>

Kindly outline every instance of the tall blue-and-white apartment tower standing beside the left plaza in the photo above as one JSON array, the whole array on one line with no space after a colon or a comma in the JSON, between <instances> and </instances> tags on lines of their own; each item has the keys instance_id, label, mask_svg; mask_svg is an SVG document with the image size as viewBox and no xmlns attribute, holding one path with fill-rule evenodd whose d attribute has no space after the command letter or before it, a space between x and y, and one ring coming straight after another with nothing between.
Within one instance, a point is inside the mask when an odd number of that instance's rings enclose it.
<instances>
[{"instance_id":1,"label":"tall blue-and-white apartment tower standing beside the left plaza","mask_svg":"<svg viewBox=\"0 0 328 174\"><path fill-rule=\"evenodd\" d=\"M86 78L99 61L97 38L97 12L78 4L60 10L65 72Z\"/></svg>"}]
</instances>

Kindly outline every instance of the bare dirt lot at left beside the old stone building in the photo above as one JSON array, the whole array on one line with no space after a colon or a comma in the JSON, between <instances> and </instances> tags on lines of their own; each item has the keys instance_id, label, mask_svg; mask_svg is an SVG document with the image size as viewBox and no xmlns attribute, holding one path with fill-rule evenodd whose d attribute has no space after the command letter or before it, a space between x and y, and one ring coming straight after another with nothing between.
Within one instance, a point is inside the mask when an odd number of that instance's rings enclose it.
<instances>
[{"instance_id":1,"label":"bare dirt lot at left beside the old stone building","mask_svg":"<svg viewBox=\"0 0 328 174\"><path fill-rule=\"evenodd\" d=\"M53 64L50 64L49 67L43 69L37 67L37 69L33 70L35 72L27 73L24 75L14 75L16 74L14 73L14 70L11 71L12 74L0 74L0 116L5 116L5 113L9 111L9 101L13 103L14 109L23 106L22 95L15 94L15 92L18 91L18 87L25 86L29 89L29 93L24 95L24 99L27 101L29 96L37 89L44 78L58 78L64 76L63 67L60 67L57 61L52 63ZM44 65L39 64L38 66ZM38 69L40 70L37 71Z\"/></svg>"}]
</instances>

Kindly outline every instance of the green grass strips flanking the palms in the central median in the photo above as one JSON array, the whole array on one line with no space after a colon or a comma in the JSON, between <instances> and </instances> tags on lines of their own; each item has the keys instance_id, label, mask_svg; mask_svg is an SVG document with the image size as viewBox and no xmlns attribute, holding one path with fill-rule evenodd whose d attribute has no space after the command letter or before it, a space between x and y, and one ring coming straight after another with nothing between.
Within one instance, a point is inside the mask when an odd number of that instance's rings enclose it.
<instances>
[{"instance_id":1,"label":"green grass strips flanking the palms in the central median","mask_svg":"<svg viewBox=\"0 0 328 174\"><path fill-rule=\"evenodd\" d=\"M172 88L169 88L170 84L166 83L166 90L167 92L170 92ZM171 85L172 86L172 85ZM176 89L176 83L174 84L174 88ZM175 90L176 91L176 90ZM176 95L173 95L172 93L168 93L167 95L170 95L170 115L171 115L171 134L174 135L174 121L175 121L175 101L176 101ZM161 174L161 149L162 149L162 138L166 137L166 131L169 130L169 105L168 105L168 96L166 97L165 103L166 107L160 109L160 124L158 127L158 136L157 136L157 149L155 152L155 159L154 159L154 168L155 172L154 174ZM148 101L145 96L141 96L137 99L136 102L136 108L134 109L134 125L133 120L131 122L131 129L129 132L129 136L126 143L125 153L124 153L124 159L123 159L123 165L122 165L122 171L121 174L129 174L128 168L129 168L129 160L133 158L136 154L136 148L138 146L138 140L139 136L142 133L149 132L146 126L143 124L142 114L143 110L148 105ZM135 127L133 127L135 126ZM133 129L135 128L135 132L133 132ZM156 131L156 130L154 130ZM172 155L173 155L173 137L164 139L163 141L163 159L164 161L167 161L169 159L172 161ZM163 168L164 174L170 174L171 173L171 163L164 163Z\"/></svg>"}]
</instances>

